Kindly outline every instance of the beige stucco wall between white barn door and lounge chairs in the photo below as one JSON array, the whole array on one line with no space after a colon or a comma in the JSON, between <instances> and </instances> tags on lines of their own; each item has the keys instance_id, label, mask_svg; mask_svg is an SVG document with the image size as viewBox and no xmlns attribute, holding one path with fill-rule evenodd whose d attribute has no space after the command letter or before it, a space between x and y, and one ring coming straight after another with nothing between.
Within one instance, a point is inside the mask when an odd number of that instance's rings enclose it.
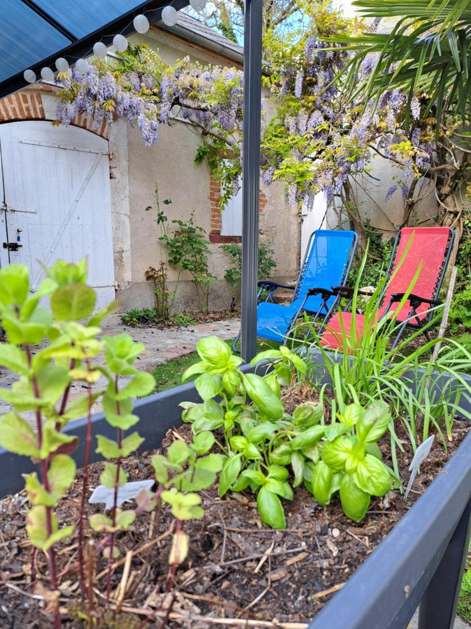
<instances>
[{"instance_id":1,"label":"beige stucco wall between white barn door and lounge chairs","mask_svg":"<svg viewBox=\"0 0 471 629\"><path fill-rule=\"evenodd\" d=\"M131 38L133 41L133 38ZM176 60L190 55L192 60L203 64L223 64L221 58L205 53L185 42L171 39L159 31L151 30L148 36L139 36L136 42L148 43L154 50L158 50L160 57L168 64L175 64ZM227 62L227 65L232 65ZM268 94L264 95L265 97ZM114 127L115 123L113 123ZM195 221L207 234L210 233L210 171L207 164L196 166L195 154L201 142L199 130L180 122L172 122L171 126L161 125L159 141L153 147L146 148L143 138L137 129L127 126L127 147L124 140L119 143L119 159L112 160L113 181L127 179L129 182L129 247L121 242L120 250L129 250L129 264L127 274L122 272L121 256L116 252L115 267L119 286L118 298L126 308L141 308L153 305L153 285L146 282L145 272L149 266L157 267L162 259L160 230L156 225L156 214L145 211L153 205L154 184L159 186L160 200L171 199L170 205L162 205L168 221L190 218L195 212ZM117 133L116 137L120 138ZM122 136L124 138L124 134ZM111 138L110 138L111 142ZM127 160L124 150L127 150ZM112 149L111 149L112 150ZM126 172L127 168L127 172ZM117 184L114 184L117 188ZM113 192L114 197L121 198L122 190ZM260 214L260 228L264 235L274 238L274 250L277 262L276 277L286 281L294 279L298 274L299 255L298 241L300 238L296 208L289 208L283 201L283 187L273 185L261 190L267 198L266 206ZM118 201L117 201L118 203ZM119 203L118 203L119 204ZM125 213L124 213L125 214ZM126 216L119 214L119 220ZM119 230L120 237L123 229ZM121 238L121 241L123 238ZM220 250L220 245L210 245L210 272L218 282L212 289L210 308L227 308L232 296L238 299L238 291L224 281L224 270L229 267L228 257ZM129 277L130 268L130 277ZM170 289L176 270L170 268ZM182 274L175 311L192 310L197 308L195 288L190 276Z\"/></svg>"}]
</instances>

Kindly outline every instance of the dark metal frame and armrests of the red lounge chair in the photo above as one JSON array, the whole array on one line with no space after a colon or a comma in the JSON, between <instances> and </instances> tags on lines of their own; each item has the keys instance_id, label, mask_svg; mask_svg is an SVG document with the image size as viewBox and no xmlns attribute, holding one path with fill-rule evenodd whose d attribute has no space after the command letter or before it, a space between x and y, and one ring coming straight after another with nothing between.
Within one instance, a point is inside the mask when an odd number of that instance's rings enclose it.
<instances>
[{"instance_id":1,"label":"dark metal frame and armrests of the red lounge chair","mask_svg":"<svg viewBox=\"0 0 471 629\"><path fill-rule=\"evenodd\" d=\"M393 252L391 253L391 259L389 260L389 265L386 271L386 277L388 278L391 277L391 270L393 269L394 260L396 259L396 251L398 249L399 240L401 238L401 232L402 232L402 229L398 231L398 233L396 234L396 238L394 239ZM398 345L399 339L403 335L404 330L406 330L406 328L409 328L410 330L421 330L423 335L425 335L426 340L428 341L431 340L428 331L423 328L426 328L428 323L430 323L433 317L433 311L429 310L428 315L426 315L426 318L423 321L421 321L420 316L418 315L416 309L423 303L430 304L430 306L440 306L440 304L443 303L442 301L440 301L440 299L438 299L438 297L440 296L441 286L443 284L443 280L445 279L448 262L450 262L450 255L452 253L453 243L455 242L455 230L453 230L452 227L448 227L448 233L449 233L449 236L448 236L447 253L441 265L440 277L438 277L438 281L436 282L435 293L433 295L433 299L421 297L414 293L409 294L408 299L406 301L409 302L411 309L409 310L408 315L402 322L401 327L399 328L398 334L396 335L396 338L394 338L394 342L393 342L393 345L391 346L391 350L393 350L396 347L396 345ZM386 289L387 289L387 282L384 282L384 286L382 287L381 294L379 296L380 307L382 305L382 300L384 298L384 293L386 292ZM355 289L351 287L347 287L347 286L332 286L332 291L329 291L329 292L330 292L329 296L335 295L336 298L332 304L332 307L330 308L330 311L328 312L328 315L325 317L322 323L322 325L326 327L328 325L328 320L330 320L332 315L335 313L336 309L338 309L338 304L340 303L340 299L350 298L349 302L347 303L347 306L345 306L345 309L350 307ZM364 292L364 291L357 291L357 294L364 295L364 296L371 295L371 293ZM387 315L387 313L391 309L391 306L394 303L398 303L399 301L401 301L404 295L405 295L404 292L394 292L393 294L391 294L389 303L387 304L386 309L384 313L382 313L379 321L384 319L384 317ZM416 323L413 323L412 320L415 320Z\"/></svg>"}]
</instances>

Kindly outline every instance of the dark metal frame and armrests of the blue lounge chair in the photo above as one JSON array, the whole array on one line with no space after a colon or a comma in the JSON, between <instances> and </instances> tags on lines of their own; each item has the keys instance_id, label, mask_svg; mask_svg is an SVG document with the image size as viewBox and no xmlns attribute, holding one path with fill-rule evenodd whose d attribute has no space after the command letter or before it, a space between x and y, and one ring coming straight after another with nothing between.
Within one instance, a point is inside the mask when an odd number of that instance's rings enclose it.
<instances>
[{"instance_id":1,"label":"dark metal frame and armrests of the blue lounge chair","mask_svg":"<svg viewBox=\"0 0 471 629\"><path fill-rule=\"evenodd\" d=\"M330 231L330 230L314 230L311 233L305 253L304 253L303 264L301 265L301 269L298 274L298 280L296 281L295 286L288 286L286 284L278 284L277 282L273 282L271 280L266 280L266 279L260 280L259 282L257 282L257 286L259 286L260 288L257 294L257 305L259 303L266 303L268 301L272 301L274 304L278 304L278 302L274 298L273 293L279 288L289 289L290 291L293 291L293 297L291 298L291 303L295 301L300 291L300 284L303 281L303 277L308 266L308 254L311 250L311 244L317 231ZM331 231L338 231L338 230L331 230ZM354 233L354 238L352 240L352 245L350 247L349 261L345 267L344 276L342 277L342 282L346 282L347 277L349 277L350 269L352 268L353 260L355 257L355 252L357 250L357 244L358 244L358 234ZM265 288L268 288L268 295L266 296L265 299L261 300L261 295ZM320 304L320 307L318 308L317 312L306 309L304 306L308 297L319 295L319 294L322 297L322 303ZM314 315L312 323L315 323L318 317L322 316L322 310L324 309L325 314L323 315L323 321L325 321L327 319L327 316L329 316L330 311L332 310L332 308L327 308L327 301L328 299L332 297L332 294L333 294L332 291L329 291L328 289L323 288L323 287L313 287L313 288L308 289L308 291L306 292L306 296L303 299L303 302L301 303L300 308L298 308L295 315L293 315L293 318L291 319L291 323L288 326L288 330L286 331L286 334L283 337L283 343L281 343L281 345L286 345L286 342L288 342L288 338L290 338L291 330L293 330L296 324L296 320L298 320L298 317L301 315L303 311L306 311L306 313L309 313L310 315ZM240 337L241 337L241 332L239 331L239 334L237 335L236 340L234 340L234 343L232 344L232 348L234 352L237 352L237 353L239 353L239 351L237 350L236 345L237 345L237 342L239 342Z\"/></svg>"}]
</instances>

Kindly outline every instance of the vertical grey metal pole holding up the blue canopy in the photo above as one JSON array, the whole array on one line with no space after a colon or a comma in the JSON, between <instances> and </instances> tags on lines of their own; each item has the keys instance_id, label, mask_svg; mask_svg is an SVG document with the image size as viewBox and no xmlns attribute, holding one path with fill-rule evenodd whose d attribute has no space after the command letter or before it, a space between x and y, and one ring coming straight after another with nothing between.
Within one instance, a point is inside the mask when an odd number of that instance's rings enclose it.
<instances>
[{"instance_id":1,"label":"vertical grey metal pole holding up the blue canopy","mask_svg":"<svg viewBox=\"0 0 471 629\"><path fill-rule=\"evenodd\" d=\"M241 355L246 362L254 357L257 350L261 98L262 0L245 0Z\"/></svg>"}]
</instances>

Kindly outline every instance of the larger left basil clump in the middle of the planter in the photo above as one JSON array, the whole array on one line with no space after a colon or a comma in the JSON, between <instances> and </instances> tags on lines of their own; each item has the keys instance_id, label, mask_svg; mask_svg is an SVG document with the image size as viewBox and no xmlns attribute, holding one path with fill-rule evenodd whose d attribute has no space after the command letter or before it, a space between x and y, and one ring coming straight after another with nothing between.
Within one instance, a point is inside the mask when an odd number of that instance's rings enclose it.
<instances>
[{"instance_id":1,"label":"larger left basil clump in the middle of the planter","mask_svg":"<svg viewBox=\"0 0 471 629\"><path fill-rule=\"evenodd\" d=\"M183 420L192 423L194 435L222 430L224 441L215 442L224 454L219 476L219 495L229 489L242 491L250 487L257 494L261 519L273 528L284 528L286 521L281 499L293 499L293 489L303 482L303 466L293 464L294 481L289 481L289 457L279 457L275 450L284 437L298 439L303 461L308 460L309 447L322 433L318 426L323 409L318 403L301 404L293 415L284 412L281 385L289 384L291 373L306 372L306 365L288 348L262 352L254 363L273 359L274 369L259 376L244 374L242 359L217 337L203 338L197 343L200 361L189 367L183 380L198 374L195 381L200 404L184 402ZM220 397L220 401L215 398ZM313 437L313 431L315 437ZM304 440L304 441L303 441ZM306 445L302 445L301 441ZM296 441L295 441L296 447Z\"/></svg>"}]
</instances>

